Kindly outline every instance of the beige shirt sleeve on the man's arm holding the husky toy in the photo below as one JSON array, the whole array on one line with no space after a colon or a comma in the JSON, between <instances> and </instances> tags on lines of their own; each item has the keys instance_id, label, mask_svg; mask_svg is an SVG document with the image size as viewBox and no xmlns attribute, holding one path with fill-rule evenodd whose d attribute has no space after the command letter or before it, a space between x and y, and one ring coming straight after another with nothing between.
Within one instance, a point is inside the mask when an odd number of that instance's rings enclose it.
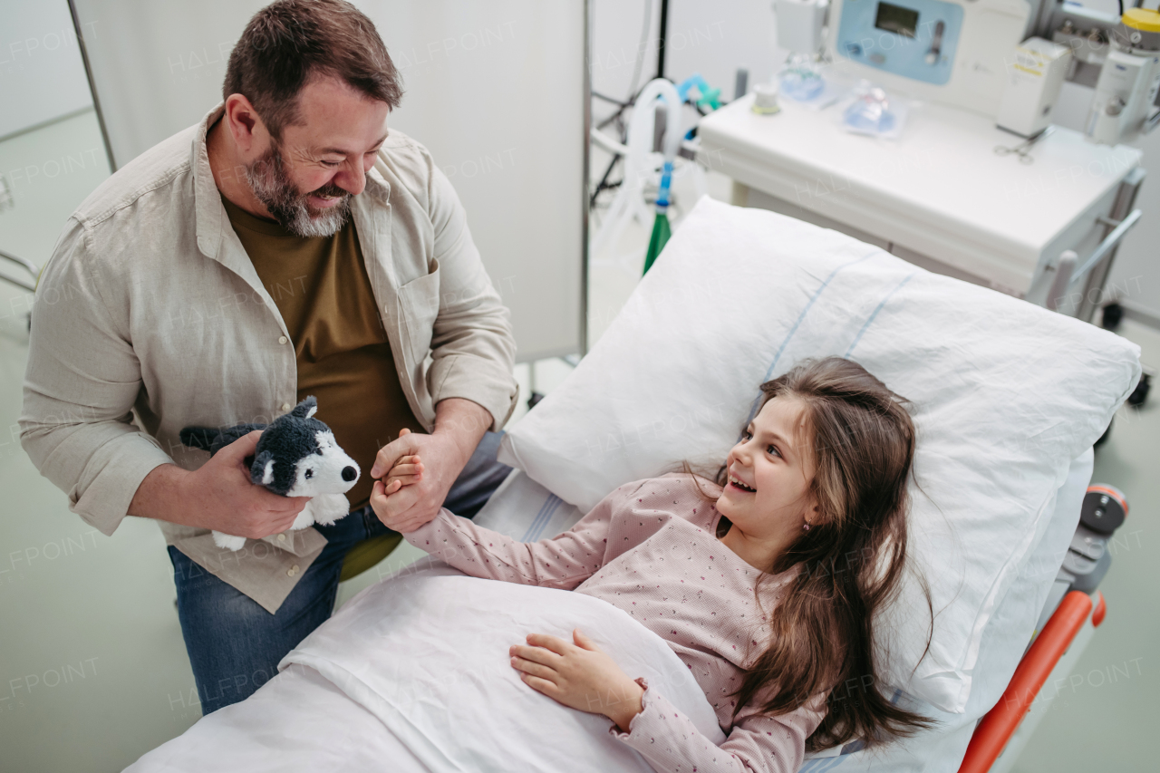
<instances>
[{"instance_id":1,"label":"beige shirt sleeve on the man's arm holding the husky toy","mask_svg":"<svg viewBox=\"0 0 1160 773\"><path fill-rule=\"evenodd\" d=\"M72 512L113 534L140 482L173 458L132 425L142 373L125 290L86 247L70 221L37 282L20 443Z\"/></svg>"}]
</instances>

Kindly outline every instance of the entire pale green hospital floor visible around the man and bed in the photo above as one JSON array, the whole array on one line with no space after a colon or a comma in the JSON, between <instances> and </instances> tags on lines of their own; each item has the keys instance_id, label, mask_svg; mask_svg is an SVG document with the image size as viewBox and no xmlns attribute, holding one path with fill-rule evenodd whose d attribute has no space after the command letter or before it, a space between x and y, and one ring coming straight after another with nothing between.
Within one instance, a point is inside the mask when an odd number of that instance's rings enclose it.
<instances>
[{"instance_id":1,"label":"entire pale green hospital floor visible around the man and bed","mask_svg":"<svg viewBox=\"0 0 1160 773\"><path fill-rule=\"evenodd\" d=\"M5 160L0 147L0 164ZM602 171L599 152L593 168ZM84 187L79 172L74 181ZM727 180L710 176L706 183L711 195L727 200ZM676 214L695 197L691 181L682 180ZM593 231L600 225L597 214ZM0 218L0 236L3 229ZM599 339L635 287L647 233L646 225L633 224L593 257L589 340ZM32 255L51 250L51 243L23 248ZM68 512L64 494L20 448L28 301L0 283L0 426L8 427L0 433L0 768L119 771L182 732L200 709L157 526L126 519L115 537L102 536ZM1160 332L1125 322L1122 333L1143 347L1146 362L1160 363ZM550 391L570 369L560 360L536 363L536 390ZM532 368L521 364L516 375L527 396ZM1157 404L1122 409L1097 454L1095 481L1121 487L1131 501L1102 588L1108 617L1075 672L1082 681L1053 699L1020 760L1023 773L1150 768L1144 739L1153 730L1160 692L1160 595L1153 570L1160 544ZM521 406L514 420L525 411ZM416 555L406 547L345 583L339 604ZM1116 673L1126 667L1131 676L1101 678L1112 667Z\"/></svg>"}]
</instances>

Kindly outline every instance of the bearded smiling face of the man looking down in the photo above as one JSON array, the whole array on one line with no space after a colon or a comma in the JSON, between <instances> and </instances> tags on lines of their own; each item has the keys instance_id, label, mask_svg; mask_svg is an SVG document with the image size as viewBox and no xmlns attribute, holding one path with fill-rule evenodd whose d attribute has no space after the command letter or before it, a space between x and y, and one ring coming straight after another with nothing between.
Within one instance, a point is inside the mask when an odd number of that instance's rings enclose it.
<instances>
[{"instance_id":1,"label":"bearded smiling face of the man looking down","mask_svg":"<svg viewBox=\"0 0 1160 773\"><path fill-rule=\"evenodd\" d=\"M297 121L245 165L246 181L291 233L331 236L346 224L350 197L367 187L389 106L328 75L312 77L297 99Z\"/></svg>"}]
</instances>

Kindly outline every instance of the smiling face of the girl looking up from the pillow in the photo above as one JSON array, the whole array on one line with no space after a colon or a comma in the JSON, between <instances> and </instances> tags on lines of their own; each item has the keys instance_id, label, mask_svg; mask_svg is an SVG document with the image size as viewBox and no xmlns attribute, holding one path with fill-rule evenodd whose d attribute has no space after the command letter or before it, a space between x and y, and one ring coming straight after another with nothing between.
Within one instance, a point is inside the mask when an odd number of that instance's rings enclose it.
<instances>
[{"instance_id":1,"label":"smiling face of the girl looking up from the pillow","mask_svg":"<svg viewBox=\"0 0 1160 773\"><path fill-rule=\"evenodd\" d=\"M747 537L784 542L817 523L810 492L814 457L805 404L792 397L768 400L726 457L728 479L717 511Z\"/></svg>"}]
</instances>

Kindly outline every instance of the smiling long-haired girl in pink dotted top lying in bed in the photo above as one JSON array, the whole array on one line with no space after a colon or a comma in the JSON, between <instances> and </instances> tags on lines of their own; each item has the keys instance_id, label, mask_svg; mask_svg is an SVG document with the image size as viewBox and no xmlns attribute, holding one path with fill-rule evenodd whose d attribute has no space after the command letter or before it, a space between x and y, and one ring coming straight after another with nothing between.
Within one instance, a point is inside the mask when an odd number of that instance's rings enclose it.
<instances>
[{"instance_id":1,"label":"smiling long-haired girl in pink dotted top lying in bed","mask_svg":"<svg viewBox=\"0 0 1160 773\"><path fill-rule=\"evenodd\" d=\"M908 735L928 721L883 696L872 653L873 615L905 561L905 400L839 357L761 391L716 484L630 483L535 543L447 510L384 523L469 575L587 593L665 638L716 709L720 746L580 630L510 650L529 687L608 716L657 771L796 771L807 750ZM408 457L376 482L379 518L383 498L421 475Z\"/></svg>"}]
</instances>

